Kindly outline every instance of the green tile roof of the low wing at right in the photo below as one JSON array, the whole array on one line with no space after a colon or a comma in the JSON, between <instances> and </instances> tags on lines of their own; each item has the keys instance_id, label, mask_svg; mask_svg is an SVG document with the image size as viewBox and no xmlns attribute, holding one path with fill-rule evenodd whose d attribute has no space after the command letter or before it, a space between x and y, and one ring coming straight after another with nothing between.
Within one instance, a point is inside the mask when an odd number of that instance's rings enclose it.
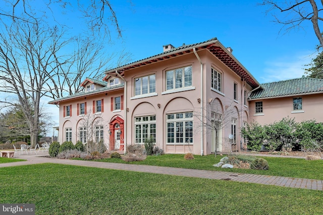
<instances>
[{"instance_id":1,"label":"green tile roof of the low wing at right","mask_svg":"<svg viewBox=\"0 0 323 215\"><path fill-rule=\"evenodd\" d=\"M302 77L261 84L261 87L250 94L250 100L323 93L323 80Z\"/></svg>"}]
</instances>

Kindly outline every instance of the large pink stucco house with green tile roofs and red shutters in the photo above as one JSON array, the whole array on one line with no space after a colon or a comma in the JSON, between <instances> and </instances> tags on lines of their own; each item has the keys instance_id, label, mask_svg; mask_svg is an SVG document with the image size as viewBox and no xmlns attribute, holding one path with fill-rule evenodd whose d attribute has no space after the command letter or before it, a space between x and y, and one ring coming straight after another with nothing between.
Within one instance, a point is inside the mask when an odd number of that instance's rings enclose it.
<instances>
[{"instance_id":1,"label":"large pink stucco house with green tile roofs and red shutters","mask_svg":"<svg viewBox=\"0 0 323 215\"><path fill-rule=\"evenodd\" d=\"M260 85L217 38L163 48L106 71L102 81L87 78L84 91L49 102L60 107L59 141L102 140L110 150L123 151L152 138L165 153L208 155L240 150L240 130L250 120L264 124L289 115L275 113L274 106L291 107L291 113L300 96L304 108L320 105L321 94L313 90L289 94L291 104L278 94L265 97L269 85ZM314 109L301 110L314 116Z\"/></svg>"}]
</instances>

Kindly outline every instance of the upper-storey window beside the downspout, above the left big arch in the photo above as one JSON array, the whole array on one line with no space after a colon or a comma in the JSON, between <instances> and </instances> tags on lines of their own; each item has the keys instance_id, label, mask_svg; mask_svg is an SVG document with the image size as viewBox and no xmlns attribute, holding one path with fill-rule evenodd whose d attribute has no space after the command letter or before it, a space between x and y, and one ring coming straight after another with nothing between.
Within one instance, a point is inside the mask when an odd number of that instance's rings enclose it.
<instances>
[{"instance_id":1,"label":"upper-storey window beside the downspout, above the left big arch","mask_svg":"<svg viewBox=\"0 0 323 215\"><path fill-rule=\"evenodd\" d=\"M135 79L135 96L156 92L156 75Z\"/></svg>"}]
</instances>

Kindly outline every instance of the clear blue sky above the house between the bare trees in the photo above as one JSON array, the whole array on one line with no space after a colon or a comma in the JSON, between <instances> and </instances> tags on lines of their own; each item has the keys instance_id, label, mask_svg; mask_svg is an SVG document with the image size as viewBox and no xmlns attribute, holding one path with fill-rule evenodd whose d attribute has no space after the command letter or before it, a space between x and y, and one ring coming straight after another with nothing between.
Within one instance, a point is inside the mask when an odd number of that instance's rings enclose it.
<instances>
[{"instance_id":1,"label":"clear blue sky above the house between the bare trees","mask_svg":"<svg viewBox=\"0 0 323 215\"><path fill-rule=\"evenodd\" d=\"M316 54L318 40L310 22L279 34L283 26L257 6L260 0L110 2L123 37L107 53L124 49L132 61L161 53L166 44L178 47L217 37L259 83L267 83L302 77L304 65ZM49 105L48 111L58 120L56 106Z\"/></svg>"}]
</instances>

